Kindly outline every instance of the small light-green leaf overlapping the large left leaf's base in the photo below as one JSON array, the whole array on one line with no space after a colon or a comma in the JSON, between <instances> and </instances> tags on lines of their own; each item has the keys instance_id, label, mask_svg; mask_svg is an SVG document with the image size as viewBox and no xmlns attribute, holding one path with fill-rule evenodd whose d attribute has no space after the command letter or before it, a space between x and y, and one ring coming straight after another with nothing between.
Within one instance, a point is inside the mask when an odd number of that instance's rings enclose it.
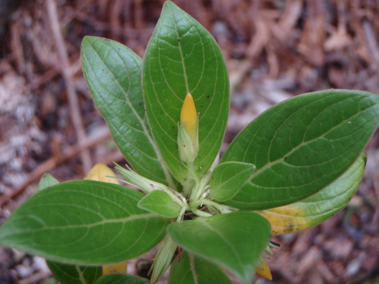
<instances>
[{"instance_id":1,"label":"small light-green leaf overlapping the large left leaf's base","mask_svg":"<svg viewBox=\"0 0 379 284\"><path fill-rule=\"evenodd\" d=\"M180 207L171 197L160 190L152 191L138 202L138 207L164 217L175 218L179 215Z\"/></svg>"}]
</instances>

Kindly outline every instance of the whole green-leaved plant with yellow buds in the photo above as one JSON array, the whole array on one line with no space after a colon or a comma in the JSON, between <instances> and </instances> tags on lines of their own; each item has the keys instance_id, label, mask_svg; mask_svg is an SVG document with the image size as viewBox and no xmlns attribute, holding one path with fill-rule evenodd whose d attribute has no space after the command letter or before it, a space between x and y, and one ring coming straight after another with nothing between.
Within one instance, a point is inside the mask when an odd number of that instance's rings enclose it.
<instances>
[{"instance_id":1,"label":"whole green-leaved plant with yellow buds","mask_svg":"<svg viewBox=\"0 0 379 284\"><path fill-rule=\"evenodd\" d=\"M125 261L159 243L150 282L170 264L169 283L231 283L225 270L243 283L255 271L270 278L270 235L322 222L358 189L379 121L376 94L331 89L282 102L219 160L228 76L217 43L191 16L166 2L144 59L91 36L81 58L128 165L114 165L121 177L104 165L79 181L45 175L0 228L1 245L46 258L62 283L149 282L107 273L125 272Z\"/></svg>"}]
</instances>

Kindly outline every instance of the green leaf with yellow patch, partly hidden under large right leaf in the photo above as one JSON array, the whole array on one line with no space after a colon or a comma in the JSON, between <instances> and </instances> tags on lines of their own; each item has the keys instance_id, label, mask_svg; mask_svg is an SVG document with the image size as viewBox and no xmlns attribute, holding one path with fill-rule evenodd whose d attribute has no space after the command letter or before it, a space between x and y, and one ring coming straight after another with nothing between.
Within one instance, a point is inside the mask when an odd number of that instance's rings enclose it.
<instances>
[{"instance_id":1,"label":"green leaf with yellow patch, partly hidden under large right leaf","mask_svg":"<svg viewBox=\"0 0 379 284\"><path fill-rule=\"evenodd\" d=\"M313 227L340 212L355 195L363 177L366 155L336 181L302 201L257 211L271 224L272 234L296 232Z\"/></svg>"}]
</instances>

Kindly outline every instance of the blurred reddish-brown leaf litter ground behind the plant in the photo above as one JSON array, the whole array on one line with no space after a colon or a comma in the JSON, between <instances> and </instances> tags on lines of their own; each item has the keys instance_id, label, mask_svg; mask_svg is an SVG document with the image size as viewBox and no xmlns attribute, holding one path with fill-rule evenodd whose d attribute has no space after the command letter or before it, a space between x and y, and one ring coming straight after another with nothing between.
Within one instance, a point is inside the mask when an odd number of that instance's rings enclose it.
<instances>
[{"instance_id":1,"label":"blurred reddish-brown leaf litter ground behind the plant","mask_svg":"<svg viewBox=\"0 0 379 284\"><path fill-rule=\"evenodd\" d=\"M173 2L212 33L229 70L221 152L259 113L297 94L379 93L377 0ZM107 37L143 57L163 3L0 0L0 223L45 172L65 181L83 178L97 162L125 162L84 81L80 43L85 35ZM268 261L267 283L379 283L378 148L375 134L364 180L347 208L321 225L273 238L281 247ZM49 276L42 259L0 248L0 283Z\"/></svg>"}]
</instances>

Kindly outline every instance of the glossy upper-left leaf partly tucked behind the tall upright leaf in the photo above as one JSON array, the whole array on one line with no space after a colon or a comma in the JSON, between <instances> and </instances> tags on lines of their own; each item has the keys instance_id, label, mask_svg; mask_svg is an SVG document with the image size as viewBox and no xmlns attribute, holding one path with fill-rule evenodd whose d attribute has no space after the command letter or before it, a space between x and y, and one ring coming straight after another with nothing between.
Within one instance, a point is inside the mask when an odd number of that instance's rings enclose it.
<instances>
[{"instance_id":1,"label":"glossy upper-left leaf partly tucked behind the tall upright leaf","mask_svg":"<svg viewBox=\"0 0 379 284\"><path fill-rule=\"evenodd\" d=\"M81 60L93 100L126 160L139 174L175 188L149 130L141 58L116 41L85 36Z\"/></svg>"}]
</instances>

